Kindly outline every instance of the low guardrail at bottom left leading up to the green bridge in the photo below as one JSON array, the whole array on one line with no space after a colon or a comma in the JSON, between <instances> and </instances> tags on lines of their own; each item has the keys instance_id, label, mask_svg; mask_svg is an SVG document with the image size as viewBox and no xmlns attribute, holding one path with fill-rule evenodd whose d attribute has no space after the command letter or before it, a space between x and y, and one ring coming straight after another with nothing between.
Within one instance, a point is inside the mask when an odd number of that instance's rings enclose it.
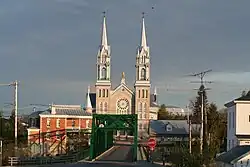
<instances>
[{"instance_id":1,"label":"low guardrail at bottom left leading up to the green bridge","mask_svg":"<svg viewBox=\"0 0 250 167\"><path fill-rule=\"evenodd\" d=\"M89 149L80 150L70 154L53 156L53 157L9 157L10 166L26 166L26 165L49 165L55 163L73 163L78 162L89 156Z\"/></svg>"}]
</instances>

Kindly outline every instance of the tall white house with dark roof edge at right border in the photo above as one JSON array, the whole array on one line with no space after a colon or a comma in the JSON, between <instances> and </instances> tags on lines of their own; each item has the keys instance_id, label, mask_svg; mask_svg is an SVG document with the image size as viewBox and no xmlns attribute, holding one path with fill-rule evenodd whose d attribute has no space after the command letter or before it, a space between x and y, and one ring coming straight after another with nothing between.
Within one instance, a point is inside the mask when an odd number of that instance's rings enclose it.
<instances>
[{"instance_id":1,"label":"tall white house with dark roof edge at right border","mask_svg":"<svg viewBox=\"0 0 250 167\"><path fill-rule=\"evenodd\" d=\"M250 95L225 104L227 107L227 151L238 145L250 145Z\"/></svg>"}]
</instances>

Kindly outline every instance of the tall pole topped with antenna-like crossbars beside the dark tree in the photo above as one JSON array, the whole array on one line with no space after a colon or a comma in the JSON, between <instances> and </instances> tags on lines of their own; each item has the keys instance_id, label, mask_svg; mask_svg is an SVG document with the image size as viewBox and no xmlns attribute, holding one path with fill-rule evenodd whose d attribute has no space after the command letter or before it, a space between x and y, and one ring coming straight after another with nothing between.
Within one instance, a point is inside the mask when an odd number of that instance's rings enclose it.
<instances>
[{"instance_id":1,"label":"tall pole topped with antenna-like crossbars beside the dark tree","mask_svg":"<svg viewBox=\"0 0 250 167\"><path fill-rule=\"evenodd\" d=\"M205 83L213 83L212 81L204 81L204 76L211 72L212 70L206 70L203 72L191 74L189 76L199 77L200 81L194 81L191 83L200 83L199 93L201 93L201 128L200 128L200 153L203 154L203 142L204 142L204 136L205 136L205 142L207 147L207 112L204 111L204 91L210 90L210 88L205 88ZM204 118L205 117L205 118ZM204 122L205 122L205 129L204 129ZM205 133L204 133L205 132ZM203 136L204 135L204 136Z\"/></svg>"}]
</instances>

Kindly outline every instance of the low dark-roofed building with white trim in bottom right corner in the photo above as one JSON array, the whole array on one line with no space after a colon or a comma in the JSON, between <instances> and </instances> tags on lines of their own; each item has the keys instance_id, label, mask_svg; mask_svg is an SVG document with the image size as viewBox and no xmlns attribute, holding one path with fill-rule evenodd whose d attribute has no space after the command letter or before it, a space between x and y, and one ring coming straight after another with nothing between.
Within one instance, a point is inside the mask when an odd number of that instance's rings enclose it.
<instances>
[{"instance_id":1,"label":"low dark-roofed building with white trim in bottom right corner","mask_svg":"<svg viewBox=\"0 0 250 167\"><path fill-rule=\"evenodd\" d=\"M218 167L249 167L250 145L235 146L226 153L222 153L215 159Z\"/></svg>"}]
</instances>

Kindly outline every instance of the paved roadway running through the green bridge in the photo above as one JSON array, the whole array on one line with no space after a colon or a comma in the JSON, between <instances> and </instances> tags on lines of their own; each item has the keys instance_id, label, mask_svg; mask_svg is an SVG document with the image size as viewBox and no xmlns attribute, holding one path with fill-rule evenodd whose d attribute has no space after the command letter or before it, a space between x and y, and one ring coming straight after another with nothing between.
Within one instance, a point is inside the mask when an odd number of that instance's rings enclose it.
<instances>
[{"instance_id":1,"label":"paved roadway running through the green bridge","mask_svg":"<svg viewBox=\"0 0 250 167\"><path fill-rule=\"evenodd\" d=\"M111 153L102 156L98 161L123 161L132 162L132 147L120 146Z\"/></svg>"}]
</instances>

